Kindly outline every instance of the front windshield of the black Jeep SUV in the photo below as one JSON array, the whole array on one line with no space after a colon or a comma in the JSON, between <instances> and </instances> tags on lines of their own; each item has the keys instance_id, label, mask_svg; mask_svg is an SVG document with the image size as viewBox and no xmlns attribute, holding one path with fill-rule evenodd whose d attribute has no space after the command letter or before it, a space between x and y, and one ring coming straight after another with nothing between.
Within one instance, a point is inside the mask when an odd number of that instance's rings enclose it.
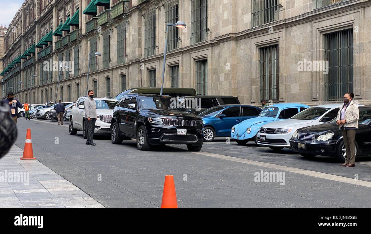
<instances>
[{"instance_id":1,"label":"front windshield of the black Jeep SUV","mask_svg":"<svg viewBox=\"0 0 371 234\"><path fill-rule=\"evenodd\" d=\"M176 98L171 97L139 97L142 109L180 110L187 111Z\"/></svg>"}]
</instances>

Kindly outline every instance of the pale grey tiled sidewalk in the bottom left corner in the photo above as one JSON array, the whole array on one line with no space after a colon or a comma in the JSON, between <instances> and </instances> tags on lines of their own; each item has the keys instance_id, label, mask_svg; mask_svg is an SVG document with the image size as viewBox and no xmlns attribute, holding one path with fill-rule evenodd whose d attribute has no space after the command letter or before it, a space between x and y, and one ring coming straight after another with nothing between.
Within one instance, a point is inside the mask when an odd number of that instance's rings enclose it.
<instances>
[{"instance_id":1,"label":"pale grey tiled sidewalk in the bottom left corner","mask_svg":"<svg viewBox=\"0 0 371 234\"><path fill-rule=\"evenodd\" d=\"M0 159L0 208L105 208L16 145ZM35 155L37 158L37 155Z\"/></svg>"}]
</instances>

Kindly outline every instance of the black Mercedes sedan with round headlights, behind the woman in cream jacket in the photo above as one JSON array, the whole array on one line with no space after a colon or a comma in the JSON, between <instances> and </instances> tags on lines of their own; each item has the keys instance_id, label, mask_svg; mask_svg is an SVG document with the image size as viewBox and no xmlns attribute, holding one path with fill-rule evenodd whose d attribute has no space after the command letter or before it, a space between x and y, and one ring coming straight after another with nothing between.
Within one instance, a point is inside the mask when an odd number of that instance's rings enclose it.
<instances>
[{"instance_id":1,"label":"black Mercedes sedan with round headlights, behind the woman in cream jacket","mask_svg":"<svg viewBox=\"0 0 371 234\"><path fill-rule=\"evenodd\" d=\"M358 130L355 135L356 159L358 156L371 155L371 106L359 107ZM290 139L294 152L306 158L316 155L335 157L345 161L347 153L342 136L342 130L336 124L336 118L329 123L300 128Z\"/></svg>"}]
</instances>

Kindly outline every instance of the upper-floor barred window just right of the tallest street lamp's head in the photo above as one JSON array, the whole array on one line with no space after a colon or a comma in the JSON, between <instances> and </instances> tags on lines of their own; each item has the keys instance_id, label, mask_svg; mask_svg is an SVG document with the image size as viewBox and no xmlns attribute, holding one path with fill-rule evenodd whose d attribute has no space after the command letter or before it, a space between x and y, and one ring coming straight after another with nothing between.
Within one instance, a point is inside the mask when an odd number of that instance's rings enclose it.
<instances>
[{"instance_id":1,"label":"upper-floor barred window just right of the tallest street lamp's head","mask_svg":"<svg viewBox=\"0 0 371 234\"><path fill-rule=\"evenodd\" d=\"M191 0L191 45L207 40L207 0Z\"/></svg>"}]
</instances>

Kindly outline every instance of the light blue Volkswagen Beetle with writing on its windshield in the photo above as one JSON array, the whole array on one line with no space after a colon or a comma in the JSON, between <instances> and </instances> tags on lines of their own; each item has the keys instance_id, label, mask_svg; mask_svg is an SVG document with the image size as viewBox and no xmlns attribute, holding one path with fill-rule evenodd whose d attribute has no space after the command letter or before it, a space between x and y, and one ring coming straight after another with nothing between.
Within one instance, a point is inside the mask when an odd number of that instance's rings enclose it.
<instances>
[{"instance_id":1,"label":"light blue Volkswagen Beetle with writing on its windshield","mask_svg":"<svg viewBox=\"0 0 371 234\"><path fill-rule=\"evenodd\" d=\"M300 103L280 103L267 106L260 112L258 117L244 120L234 125L231 138L240 145L249 141L255 141L256 143L256 134L264 124L291 118L308 107Z\"/></svg>"}]
</instances>

